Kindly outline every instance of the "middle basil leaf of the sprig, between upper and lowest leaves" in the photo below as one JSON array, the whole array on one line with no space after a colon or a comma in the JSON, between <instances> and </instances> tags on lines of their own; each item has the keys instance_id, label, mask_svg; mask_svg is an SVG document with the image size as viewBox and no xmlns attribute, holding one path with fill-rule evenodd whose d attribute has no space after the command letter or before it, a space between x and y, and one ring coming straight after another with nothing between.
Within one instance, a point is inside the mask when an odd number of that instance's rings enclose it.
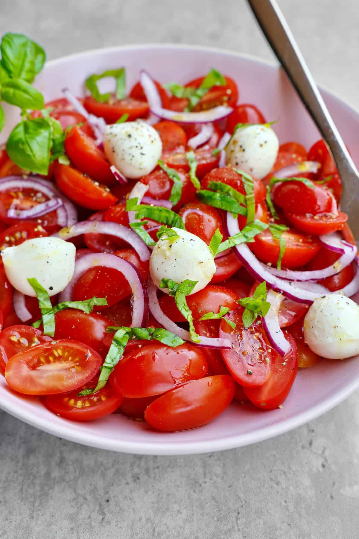
<instances>
[{"instance_id":1,"label":"middle basil leaf of the sprig, between upper and lowest leaves","mask_svg":"<svg viewBox=\"0 0 359 539\"><path fill-rule=\"evenodd\" d=\"M29 82L21 79L8 79L1 89L1 98L21 109L31 108L39 110L44 108L44 97L41 92L31 86Z\"/></svg>"}]
</instances>

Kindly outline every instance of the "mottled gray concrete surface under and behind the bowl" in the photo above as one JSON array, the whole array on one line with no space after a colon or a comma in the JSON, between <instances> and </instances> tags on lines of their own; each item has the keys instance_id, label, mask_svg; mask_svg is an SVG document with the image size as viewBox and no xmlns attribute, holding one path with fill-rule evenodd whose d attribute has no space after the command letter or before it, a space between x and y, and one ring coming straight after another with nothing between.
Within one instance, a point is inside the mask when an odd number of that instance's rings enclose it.
<instances>
[{"instance_id":1,"label":"mottled gray concrete surface under and behind the bowl","mask_svg":"<svg viewBox=\"0 0 359 539\"><path fill-rule=\"evenodd\" d=\"M272 58L243 0L2 0L49 58L173 42ZM279 2L314 77L359 107L356 0ZM278 438L193 457L82 447L0 414L0 537L357 539L359 394Z\"/></svg>"}]
</instances>

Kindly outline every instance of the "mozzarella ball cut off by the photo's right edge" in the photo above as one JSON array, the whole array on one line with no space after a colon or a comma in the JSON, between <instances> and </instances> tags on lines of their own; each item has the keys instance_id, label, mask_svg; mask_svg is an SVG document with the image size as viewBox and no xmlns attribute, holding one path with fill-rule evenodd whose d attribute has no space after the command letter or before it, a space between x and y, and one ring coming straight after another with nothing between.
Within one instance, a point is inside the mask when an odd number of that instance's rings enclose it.
<instances>
[{"instance_id":1,"label":"mozzarella ball cut off by the photo's right edge","mask_svg":"<svg viewBox=\"0 0 359 539\"><path fill-rule=\"evenodd\" d=\"M341 294L316 299L304 319L304 340L330 360L359 354L359 306Z\"/></svg>"}]
</instances>

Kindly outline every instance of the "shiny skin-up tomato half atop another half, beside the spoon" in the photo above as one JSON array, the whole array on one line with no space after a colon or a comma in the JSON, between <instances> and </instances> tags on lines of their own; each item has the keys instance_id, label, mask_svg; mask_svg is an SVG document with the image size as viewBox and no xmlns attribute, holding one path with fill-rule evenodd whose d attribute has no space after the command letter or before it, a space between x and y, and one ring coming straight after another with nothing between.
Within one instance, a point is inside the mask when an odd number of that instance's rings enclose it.
<instances>
[{"instance_id":1,"label":"shiny skin-up tomato half atop another half, beside the spoon","mask_svg":"<svg viewBox=\"0 0 359 539\"><path fill-rule=\"evenodd\" d=\"M316 215L336 210L332 193L318 184L309 187L302 182L280 182L274 185L272 198L279 208L297 215Z\"/></svg>"}]
</instances>

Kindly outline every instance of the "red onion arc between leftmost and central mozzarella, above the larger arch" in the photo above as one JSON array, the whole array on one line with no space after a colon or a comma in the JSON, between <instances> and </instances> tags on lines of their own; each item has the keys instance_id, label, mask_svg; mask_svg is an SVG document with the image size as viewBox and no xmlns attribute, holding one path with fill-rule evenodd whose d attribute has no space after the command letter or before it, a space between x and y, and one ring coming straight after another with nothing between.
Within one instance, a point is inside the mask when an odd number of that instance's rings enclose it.
<instances>
[{"instance_id":1,"label":"red onion arc between leftmost and central mozzarella, above the larger arch","mask_svg":"<svg viewBox=\"0 0 359 539\"><path fill-rule=\"evenodd\" d=\"M108 234L108 236L121 238L124 241L127 241L127 243L135 249L140 260L144 261L150 258L149 249L143 243L142 239L137 236L136 232L133 232L133 230L128 229L124 225L112 223L110 221L81 221L75 225L66 226L56 234L53 234L53 236L67 241L76 236L80 236L80 234Z\"/></svg>"}]
</instances>

